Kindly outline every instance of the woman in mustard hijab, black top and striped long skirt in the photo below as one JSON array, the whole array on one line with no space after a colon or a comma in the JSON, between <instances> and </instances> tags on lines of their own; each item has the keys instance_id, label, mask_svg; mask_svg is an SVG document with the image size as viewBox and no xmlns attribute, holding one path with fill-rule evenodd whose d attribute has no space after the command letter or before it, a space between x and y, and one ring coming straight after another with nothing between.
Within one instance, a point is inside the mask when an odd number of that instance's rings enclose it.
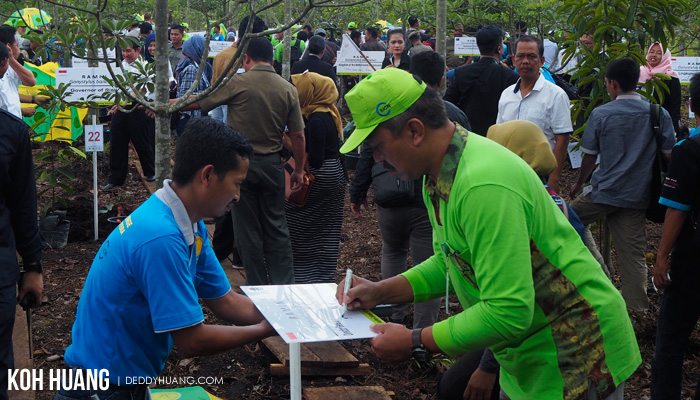
<instances>
[{"instance_id":1,"label":"woman in mustard hijab, black top and striped long skirt","mask_svg":"<svg viewBox=\"0 0 700 400\"><path fill-rule=\"evenodd\" d=\"M292 75L306 122L306 154L314 175L303 207L285 203L294 254L295 283L335 282L343 224L345 171L340 163L338 89L315 72ZM301 163L302 160L296 160Z\"/></svg>"}]
</instances>

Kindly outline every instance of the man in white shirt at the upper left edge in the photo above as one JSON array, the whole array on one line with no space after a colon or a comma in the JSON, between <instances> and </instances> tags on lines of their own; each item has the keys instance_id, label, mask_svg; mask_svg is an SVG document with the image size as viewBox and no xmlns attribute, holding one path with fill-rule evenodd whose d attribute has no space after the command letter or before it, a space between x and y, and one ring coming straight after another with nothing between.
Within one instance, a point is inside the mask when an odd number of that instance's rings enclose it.
<instances>
[{"instance_id":1,"label":"man in white shirt at the upper left edge","mask_svg":"<svg viewBox=\"0 0 700 400\"><path fill-rule=\"evenodd\" d=\"M36 78L32 71L28 70L17 61L20 50L13 27L8 25L0 26L0 45L7 46L7 49L10 51L9 68L5 76L0 79L0 108L18 118L22 118L22 102L31 102L46 106L49 102L48 97L37 98L34 95L20 96L18 92L19 85L36 85Z\"/></svg>"}]
</instances>

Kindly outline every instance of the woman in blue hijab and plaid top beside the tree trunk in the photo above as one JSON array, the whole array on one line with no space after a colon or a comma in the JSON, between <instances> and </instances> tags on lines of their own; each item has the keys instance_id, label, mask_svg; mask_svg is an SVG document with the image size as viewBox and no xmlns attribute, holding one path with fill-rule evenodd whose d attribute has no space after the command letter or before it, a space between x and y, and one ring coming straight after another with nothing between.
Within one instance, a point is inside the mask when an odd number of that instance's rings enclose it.
<instances>
[{"instance_id":1,"label":"woman in blue hijab and plaid top beside the tree trunk","mask_svg":"<svg viewBox=\"0 0 700 400\"><path fill-rule=\"evenodd\" d=\"M177 97L181 98L187 93L188 90L194 84L195 78L197 77L197 71L199 70L199 63L202 61L202 55L204 54L204 36L193 35L190 39L183 43L182 45L182 58L180 62L175 67L175 79L177 79ZM198 94L203 92L206 88L211 85L212 68L209 63L204 64L204 73L202 74L202 79L199 81L199 85L192 92L192 94ZM175 125L175 130L177 130L178 135L181 135L185 130L187 121L190 118L201 117L202 110L195 111L180 111L180 119Z\"/></svg>"}]
</instances>

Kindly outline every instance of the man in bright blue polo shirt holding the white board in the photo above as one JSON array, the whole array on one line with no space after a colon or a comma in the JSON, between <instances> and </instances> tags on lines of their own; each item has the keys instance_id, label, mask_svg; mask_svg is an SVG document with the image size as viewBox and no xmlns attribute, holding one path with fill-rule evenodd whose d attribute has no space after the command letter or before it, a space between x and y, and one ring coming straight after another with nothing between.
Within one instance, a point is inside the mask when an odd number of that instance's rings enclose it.
<instances>
[{"instance_id":1,"label":"man in bright blue polo shirt holding the white board","mask_svg":"<svg viewBox=\"0 0 700 400\"><path fill-rule=\"evenodd\" d=\"M245 137L219 121L187 125L173 179L103 243L78 303L66 363L106 369L109 389L59 390L58 398L108 398L116 391L147 398L146 382L163 370L173 344L188 356L213 354L273 332L247 297L231 291L202 222L239 200L252 153ZM239 326L203 323L200 298Z\"/></svg>"}]
</instances>

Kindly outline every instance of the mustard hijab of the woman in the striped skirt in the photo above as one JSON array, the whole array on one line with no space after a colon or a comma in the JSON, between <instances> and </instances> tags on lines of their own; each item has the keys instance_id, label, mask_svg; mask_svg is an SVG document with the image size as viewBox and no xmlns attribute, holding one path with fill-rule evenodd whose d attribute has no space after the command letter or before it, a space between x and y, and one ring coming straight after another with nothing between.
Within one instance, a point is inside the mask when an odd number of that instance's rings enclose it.
<instances>
[{"instance_id":1,"label":"mustard hijab of the woman in the striped skirt","mask_svg":"<svg viewBox=\"0 0 700 400\"><path fill-rule=\"evenodd\" d=\"M297 87L299 105L304 117L309 118L315 112L331 113L340 140L345 140L340 111L335 106L335 102L338 100L338 89L333 80L327 76L306 71L303 74L292 75L292 83Z\"/></svg>"}]
</instances>

